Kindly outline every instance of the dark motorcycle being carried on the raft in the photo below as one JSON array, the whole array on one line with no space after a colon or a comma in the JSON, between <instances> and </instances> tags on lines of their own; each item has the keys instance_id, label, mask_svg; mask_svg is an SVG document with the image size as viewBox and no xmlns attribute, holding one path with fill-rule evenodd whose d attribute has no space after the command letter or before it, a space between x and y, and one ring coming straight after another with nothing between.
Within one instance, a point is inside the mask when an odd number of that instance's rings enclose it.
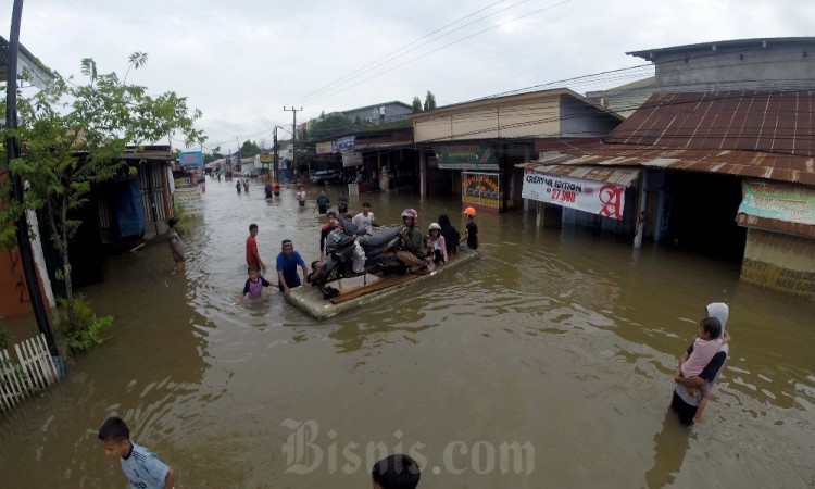
<instances>
[{"instance_id":1,"label":"dark motorcycle being carried on the raft","mask_svg":"<svg viewBox=\"0 0 815 489\"><path fill-rule=\"evenodd\" d=\"M408 267L394 254L402 227L379 227L369 235L351 222L340 223L326 237L325 266L319 276L312 277L312 284L319 287L324 298L331 299L339 294L336 288L327 285L331 280L371 273L405 273Z\"/></svg>"}]
</instances>

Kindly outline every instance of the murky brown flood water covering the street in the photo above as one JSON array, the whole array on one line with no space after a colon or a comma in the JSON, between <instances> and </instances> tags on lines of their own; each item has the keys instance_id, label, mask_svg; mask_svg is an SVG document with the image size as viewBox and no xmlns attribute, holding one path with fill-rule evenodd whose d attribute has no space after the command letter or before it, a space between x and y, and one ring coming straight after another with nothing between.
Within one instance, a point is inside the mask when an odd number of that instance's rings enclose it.
<instances>
[{"instance_id":1,"label":"murky brown flood water covering the street","mask_svg":"<svg viewBox=\"0 0 815 489\"><path fill-rule=\"evenodd\" d=\"M0 417L2 487L126 487L97 441L111 414L176 488L368 488L381 451L417 455L421 488L815 486L815 305L740 285L738 265L479 215L480 260L316 323L276 289L236 301L250 223L271 268L283 239L317 256L316 190L301 210L291 188L206 187L186 275L159 243L82 290L111 339ZM364 199L380 223L415 206L463 227L457 199ZM731 358L688 429L673 372L714 301Z\"/></svg>"}]
</instances>

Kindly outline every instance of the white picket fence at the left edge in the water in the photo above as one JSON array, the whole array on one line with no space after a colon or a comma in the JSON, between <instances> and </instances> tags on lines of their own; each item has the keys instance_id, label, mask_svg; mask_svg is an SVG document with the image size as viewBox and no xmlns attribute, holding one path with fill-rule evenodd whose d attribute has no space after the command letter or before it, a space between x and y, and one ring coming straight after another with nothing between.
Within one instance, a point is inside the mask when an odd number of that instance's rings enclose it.
<instances>
[{"instance_id":1,"label":"white picket fence at the left edge in the water","mask_svg":"<svg viewBox=\"0 0 815 489\"><path fill-rule=\"evenodd\" d=\"M45 335L14 346L15 355L0 351L0 411L7 411L60 378Z\"/></svg>"}]
</instances>

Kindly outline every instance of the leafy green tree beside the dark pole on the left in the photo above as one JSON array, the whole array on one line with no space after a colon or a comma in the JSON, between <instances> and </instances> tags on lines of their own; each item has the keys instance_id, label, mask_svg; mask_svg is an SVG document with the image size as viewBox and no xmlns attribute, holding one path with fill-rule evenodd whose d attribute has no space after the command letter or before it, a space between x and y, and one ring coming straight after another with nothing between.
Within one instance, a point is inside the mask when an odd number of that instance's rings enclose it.
<instances>
[{"instance_id":1,"label":"leafy green tree beside the dark pole on the left","mask_svg":"<svg viewBox=\"0 0 815 489\"><path fill-rule=\"evenodd\" d=\"M187 147L205 140L193 128L201 112L190 113L186 98L172 91L150 96L146 87L127 84L130 70L146 62L146 53L133 53L121 79L114 72L99 74L96 62L86 58L82 61L84 85L57 75L32 98L20 97L20 127L3 128L3 136L15 138L21 149L21 156L10 161L9 168L26 181L27 191L25 209L5 208L0 223L9 223L28 209L42 212L62 259L58 276L65 281L66 317L74 326L79 322L68 242L83 223L68 218L71 211L88 202L91 184L137 173L123 160L128 145L138 147L176 133L184 136Z\"/></svg>"}]
</instances>

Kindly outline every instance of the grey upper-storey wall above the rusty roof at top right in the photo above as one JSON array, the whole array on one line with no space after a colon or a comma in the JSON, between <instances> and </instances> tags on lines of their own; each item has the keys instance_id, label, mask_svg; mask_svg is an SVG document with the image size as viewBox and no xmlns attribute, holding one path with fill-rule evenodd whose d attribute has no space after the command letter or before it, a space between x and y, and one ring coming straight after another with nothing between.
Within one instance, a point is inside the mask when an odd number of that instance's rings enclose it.
<instances>
[{"instance_id":1,"label":"grey upper-storey wall above the rusty roof at top right","mask_svg":"<svg viewBox=\"0 0 815 489\"><path fill-rule=\"evenodd\" d=\"M655 53L657 90L815 88L815 43L713 46Z\"/></svg>"}]
</instances>

